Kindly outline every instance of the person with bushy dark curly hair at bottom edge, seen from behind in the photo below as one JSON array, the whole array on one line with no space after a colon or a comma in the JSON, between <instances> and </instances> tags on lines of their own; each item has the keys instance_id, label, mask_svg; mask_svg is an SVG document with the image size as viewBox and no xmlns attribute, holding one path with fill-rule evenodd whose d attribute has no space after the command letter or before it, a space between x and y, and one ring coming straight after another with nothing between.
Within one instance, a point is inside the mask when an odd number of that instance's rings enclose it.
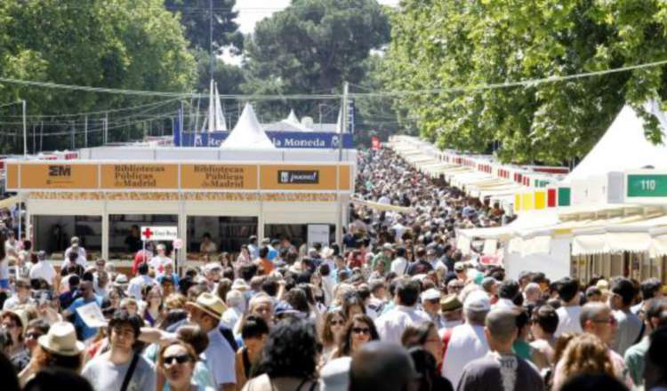
<instances>
[{"instance_id":1,"label":"person with bushy dark curly hair at bottom edge, seen from behind","mask_svg":"<svg viewBox=\"0 0 667 391\"><path fill-rule=\"evenodd\" d=\"M317 333L315 325L301 320L277 323L264 345L257 373L244 391L318 390Z\"/></svg>"}]
</instances>

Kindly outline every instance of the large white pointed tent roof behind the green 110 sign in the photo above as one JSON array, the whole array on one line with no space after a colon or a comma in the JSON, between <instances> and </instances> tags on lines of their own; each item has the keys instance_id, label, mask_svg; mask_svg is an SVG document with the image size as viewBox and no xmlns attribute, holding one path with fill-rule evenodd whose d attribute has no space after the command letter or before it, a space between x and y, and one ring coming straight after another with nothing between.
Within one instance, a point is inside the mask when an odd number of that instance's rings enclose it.
<instances>
[{"instance_id":1,"label":"large white pointed tent roof behind the green 110 sign","mask_svg":"<svg viewBox=\"0 0 667 391\"><path fill-rule=\"evenodd\" d=\"M662 113L652 110L658 118ZM663 131L663 140L665 130ZM583 180L607 172L640 169L645 166L667 168L667 146L654 145L644 133L644 120L634 108L625 105L607 132L583 158L564 182Z\"/></svg>"}]
</instances>

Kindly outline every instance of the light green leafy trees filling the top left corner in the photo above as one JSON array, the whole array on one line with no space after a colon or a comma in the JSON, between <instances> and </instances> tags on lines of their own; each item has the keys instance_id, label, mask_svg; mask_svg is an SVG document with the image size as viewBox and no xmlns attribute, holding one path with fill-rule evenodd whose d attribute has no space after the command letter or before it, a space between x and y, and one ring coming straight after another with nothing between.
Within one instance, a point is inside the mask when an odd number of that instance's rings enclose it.
<instances>
[{"instance_id":1,"label":"light green leafy trees filling the top left corner","mask_svg":"<svg viewBox=\"0 0 667 391\"><path fill-rule=\"evenodd\" d=\"M196 76L196 64L187 47L179 20L165 11L161 0L144 0L139 6L131 0L0 2L0 76L4 77L186 92ZM28 100L28 115L61 115L155 101L122 94L0 84L0 102L18 99ZM175 107L170 110L175 113ZM140 119L160 114L156 110L145 112L147 115L141 117L127 113L123 119L111 116L111 129L120 129L114 126L117 124L138 124ZM16 117L10 118L14 123L7 121L10 124L0 132L13 132L19 127ZM95 120L99 124L99 118ZM62 133L69 132L72 123L83 128L83 122L80 116L47 121L45 132L58 136L49 137L50 144L45 148L70 148L69 137L62 137ZM141 137L141 126L127 126L122 136L111 132L111 140Z\"/></svg>"}]
</instances>

